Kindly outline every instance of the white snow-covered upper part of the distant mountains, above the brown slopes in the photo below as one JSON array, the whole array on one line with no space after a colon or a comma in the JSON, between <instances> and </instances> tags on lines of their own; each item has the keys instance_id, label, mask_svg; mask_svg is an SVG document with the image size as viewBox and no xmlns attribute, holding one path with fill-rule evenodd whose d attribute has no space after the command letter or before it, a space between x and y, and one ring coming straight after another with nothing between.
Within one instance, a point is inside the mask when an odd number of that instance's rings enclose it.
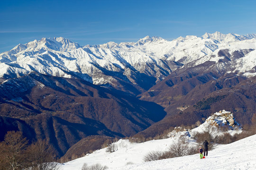
<instances>
[{"instance_id":1,"label":"white snow-covered upper part of the distant mountains, above the brown slopes","mask_svg":"<svg viewBox=\"0 0 256 170\"><path fill-rule=\"evenodd\" d=\"M158 82L189 63L189 67L195 67L227 58L230 64L220 64L220 68L229 65L227 72L250 76L255 75L252 70L256 66L255 49L256 34L219 32L173 41L146 36L137 42L93 46L80 46L62 37L42 38L1 53L0 78L3 82L36 71L50 76L78 77L95 85L115 86L117 79L138 85L138 74L154 77L154 82Z\"/></svg>"}]
</instances>

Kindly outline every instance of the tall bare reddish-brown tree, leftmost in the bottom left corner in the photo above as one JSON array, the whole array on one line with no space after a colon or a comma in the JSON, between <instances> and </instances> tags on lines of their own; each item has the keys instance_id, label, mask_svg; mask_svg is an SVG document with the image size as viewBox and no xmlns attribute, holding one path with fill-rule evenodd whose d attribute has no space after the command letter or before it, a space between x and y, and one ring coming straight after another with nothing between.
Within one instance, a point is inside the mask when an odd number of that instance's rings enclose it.
<instances>
[{"instance_id":1,"label":"tall bare reddish-brown tree, leftmost in the bottom left corner","mask_svg":"<svg viewBox=\"0 0 256 170\"><path fill-rule=\"evenodd\" d=\"M5 169L18 170L24 169L27 166L27 157L25 149L27 147L27 139L22 136L21 132L9 131L4 136L2 145L3 164L6 164Z\"/></svg>"}]
</instances>

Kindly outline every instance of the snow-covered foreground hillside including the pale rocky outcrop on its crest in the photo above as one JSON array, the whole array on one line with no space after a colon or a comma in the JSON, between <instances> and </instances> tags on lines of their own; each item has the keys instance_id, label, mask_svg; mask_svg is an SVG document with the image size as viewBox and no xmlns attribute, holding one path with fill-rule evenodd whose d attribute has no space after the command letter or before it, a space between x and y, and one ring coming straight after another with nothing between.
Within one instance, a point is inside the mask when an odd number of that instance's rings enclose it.
<instances>
[{"instance_id":1,"label":"snow-covered foreground hillside including the pale rocky outcrop on its crest","mask_svg":"<svg viewBox=\"0 0 256 170\"><path fill-rule=\"evenodd\" d=\"M220 114L221 113L221 114ZM223 115L226 115L224 117ZM196 141L191 136L195 132L202 132L214 121L218 122L219 126L240 125L233 121L232 113L222 110L209 117L202 125L189 131L176 131L169 133L169 138L151 140L144 143L130 143L129 140L120 139L117 141L117 151L107 153L106 149L94 151L82 158L66 162L61 165L61 170L81 170L83 163L91 166L100 163L102 166L109 167L110 170L250 170L255 169L256 159L256 135L239 140L232 144L219 144L215 149L209 151L206 159L200 160L199 153L165 159L159 161L144 162L144 156L152 151L167 151L168 147L178 141L181 135L184 135L189 145L196 145ZM231 124L232 123L232 124ZM234 126L235 127L235 126ZM232 128L234 128L232 127ZM230 127L231 128L231 127ZM179 130L178 130L179 129ZM177 132L178 131L178 132ZM240 133L241 128L237 130L229 130L230 134ZM190 132L190 134L188 133ZM215 135L220 135L221 132L216 131Z\"/></svg>"}]
</instances>

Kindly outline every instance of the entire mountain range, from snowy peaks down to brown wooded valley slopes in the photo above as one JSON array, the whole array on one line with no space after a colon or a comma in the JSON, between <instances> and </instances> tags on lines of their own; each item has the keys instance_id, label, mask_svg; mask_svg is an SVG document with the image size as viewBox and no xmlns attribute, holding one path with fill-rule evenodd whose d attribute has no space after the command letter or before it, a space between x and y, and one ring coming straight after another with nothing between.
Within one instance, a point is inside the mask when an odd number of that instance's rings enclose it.
<instances>
[{"instance_id":1,"label":"entire mountain range, from snowy peaks down to brown wooded valley slopes","mask_svg":"<svg viewBox=\"0 0 256 170\"><path fill-rule=\"evenodd\" d=\"M20 130L30 140L46 138L62 156L84 137L154 137L218 110L249 125L255 49L256 34L219 32L93 46L62 37L18 44L0 54L0 140Z\"/></svg>"}]
</instances>

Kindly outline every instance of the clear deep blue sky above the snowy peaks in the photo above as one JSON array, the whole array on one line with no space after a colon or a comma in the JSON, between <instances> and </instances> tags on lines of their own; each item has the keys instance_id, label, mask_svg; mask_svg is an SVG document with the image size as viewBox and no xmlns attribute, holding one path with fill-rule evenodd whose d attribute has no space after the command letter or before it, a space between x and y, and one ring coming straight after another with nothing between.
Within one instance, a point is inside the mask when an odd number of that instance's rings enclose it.
<instances>
[{"instance_id":1,"label":"clear deep blue sky above the snowy peaks","mask_svg":"<svg viewBox=\"0 0 256 170\"><path fill-rule=\"evenodd\" d=\"M80 45L256 34L255 0L0 0L0 52L43 37Z\"/></svg>"}]
</instances>

